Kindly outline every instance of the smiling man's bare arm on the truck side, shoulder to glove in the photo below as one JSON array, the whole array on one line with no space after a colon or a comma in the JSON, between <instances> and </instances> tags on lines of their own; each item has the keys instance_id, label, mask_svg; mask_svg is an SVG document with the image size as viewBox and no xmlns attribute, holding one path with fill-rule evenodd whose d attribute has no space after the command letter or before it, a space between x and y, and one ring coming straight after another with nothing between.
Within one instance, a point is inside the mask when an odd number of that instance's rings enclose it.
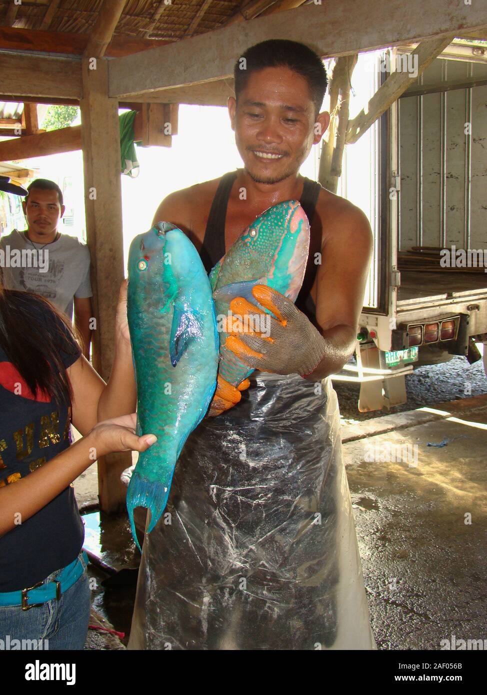
<instances>
[{"instance_id":1,"label":"smiling man's bare arm on the truck side, shoulder to glove","mask_svg":"<svg viewBox=\"0 0 487 695\"><path fill-rule=\"evenodd\" d=\"M306 379L336 374L352 357L372 248L370 223L359 208L343 211L329 224L316 295L316 320L327 350Z\"/></svg>"}]
</instances>

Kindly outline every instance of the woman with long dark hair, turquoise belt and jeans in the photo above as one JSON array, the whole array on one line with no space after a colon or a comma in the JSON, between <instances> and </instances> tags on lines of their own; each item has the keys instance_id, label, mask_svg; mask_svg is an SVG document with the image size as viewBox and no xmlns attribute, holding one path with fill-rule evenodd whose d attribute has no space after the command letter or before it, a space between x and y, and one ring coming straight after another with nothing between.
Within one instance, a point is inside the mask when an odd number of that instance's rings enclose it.
<instances>
[{"instance_id":1,"label":"woman with long dark hair, turquoise belt and jeans","mask_svg":"<svg viewBox=\"0 0 487 695\"><path fill-rule=\"evenodd\" d=\"M126 282L115 336L105 384L52 304L0 285L0 639L10 643L83 648L90 589L71 483L100 456L156 441L135 434Z\"/></svg>"}]
</instances>

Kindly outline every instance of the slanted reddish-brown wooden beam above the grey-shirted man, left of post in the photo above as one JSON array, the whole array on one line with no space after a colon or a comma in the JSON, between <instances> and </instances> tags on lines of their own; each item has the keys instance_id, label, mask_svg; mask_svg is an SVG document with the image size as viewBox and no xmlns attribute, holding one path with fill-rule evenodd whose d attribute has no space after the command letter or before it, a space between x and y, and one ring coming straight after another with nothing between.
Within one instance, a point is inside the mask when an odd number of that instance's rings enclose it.
<instances>
[{"instance_id":1,"label":"slanted reddish-brown wooden beam above the grey-shirted man, left of post","mask_svg":"<svg viewBox=\"0 0 487 695\"><path fill-rule=\"evenodd\" d=\"M3 140L0 142L0 161L42 157L74 149L81 149L81 126Z\"/></svg>"}]
</instances>

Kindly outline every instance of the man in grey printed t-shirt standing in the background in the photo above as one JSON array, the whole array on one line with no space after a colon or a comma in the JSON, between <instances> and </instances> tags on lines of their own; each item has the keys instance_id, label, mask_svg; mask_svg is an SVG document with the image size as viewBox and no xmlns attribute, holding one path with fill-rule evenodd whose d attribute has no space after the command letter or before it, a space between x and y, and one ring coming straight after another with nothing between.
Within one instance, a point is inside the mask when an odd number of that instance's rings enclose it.
<instances>
[{"instance_id":1,"label":"man in grey printed t-shirt standing in the background","mask_svg":"<svg viewBox=\"0 0 487 695\"><path fill-rule=\"evenodd\" d=\"M36 292L50 300L74 325L90 352L90 252L73 236L58 231L63 216L63 193L53 181L36 179L22 202L26 231L0 239L0 280L10 290Z\"/></svg>"}]
</instances>

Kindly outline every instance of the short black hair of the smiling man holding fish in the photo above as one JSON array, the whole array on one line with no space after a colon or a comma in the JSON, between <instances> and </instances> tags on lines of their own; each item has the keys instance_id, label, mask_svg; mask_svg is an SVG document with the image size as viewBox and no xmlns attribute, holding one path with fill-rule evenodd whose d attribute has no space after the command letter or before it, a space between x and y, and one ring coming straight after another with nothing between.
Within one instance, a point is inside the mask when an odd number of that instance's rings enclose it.
<instances>
[{"instance_id":1,"label":"short black hair of the smiling man holding fish","mask_svg":"<svg viewBox=\"0 0 487 695\"><path fill-rule=\"evenodd\" d=\"M242 61L245 58L245 61ZM315 104L315 116L320 113L324 94L327 91L327 71L320 56L297 41L270 39L251 46L240 56L233 69L235 77L235 96L247 85L252 72L265 67L288 67L302 75L307 81L311 99Z\"/></svg>"}]
</instances>

